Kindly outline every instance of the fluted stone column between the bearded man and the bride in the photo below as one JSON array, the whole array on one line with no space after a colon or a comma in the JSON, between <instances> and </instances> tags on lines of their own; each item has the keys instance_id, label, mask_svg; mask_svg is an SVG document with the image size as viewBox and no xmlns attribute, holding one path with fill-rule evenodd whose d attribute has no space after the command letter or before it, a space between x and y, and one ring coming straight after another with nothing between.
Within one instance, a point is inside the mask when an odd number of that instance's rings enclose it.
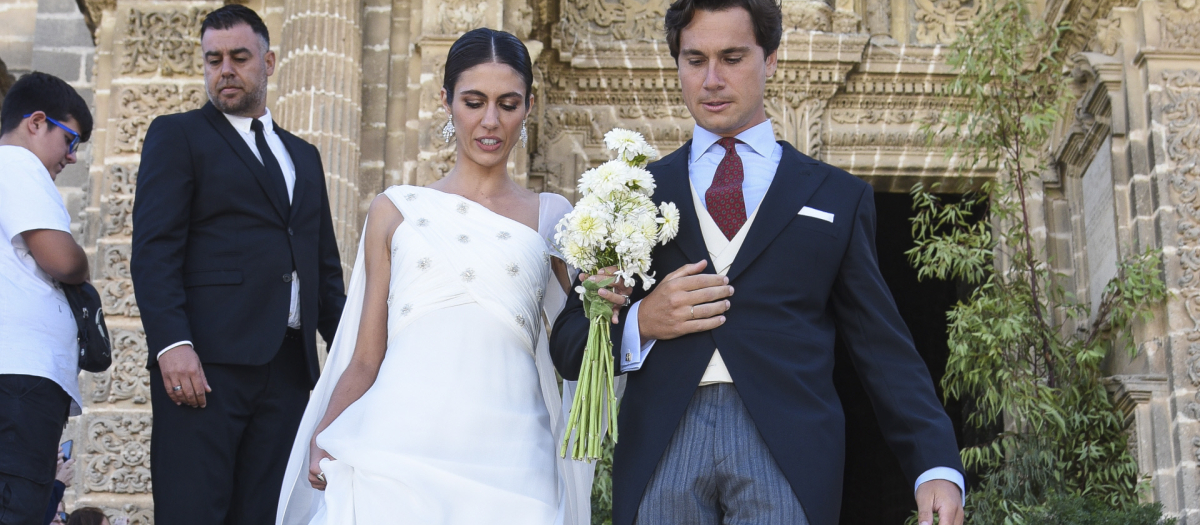
<instances>
[{"instance_id":1,"label":"fluted stone column between the bearded man and the bride","mask_svg":"<svg viewBox=\"0 0 1200 525\"><path fill-rule=\"evenodd\" d=\"M346 278L358 252L359 138L362 120L362 4L292 0L280 38L280 125L320 150Z\"/></svg>"}]
</instances>

